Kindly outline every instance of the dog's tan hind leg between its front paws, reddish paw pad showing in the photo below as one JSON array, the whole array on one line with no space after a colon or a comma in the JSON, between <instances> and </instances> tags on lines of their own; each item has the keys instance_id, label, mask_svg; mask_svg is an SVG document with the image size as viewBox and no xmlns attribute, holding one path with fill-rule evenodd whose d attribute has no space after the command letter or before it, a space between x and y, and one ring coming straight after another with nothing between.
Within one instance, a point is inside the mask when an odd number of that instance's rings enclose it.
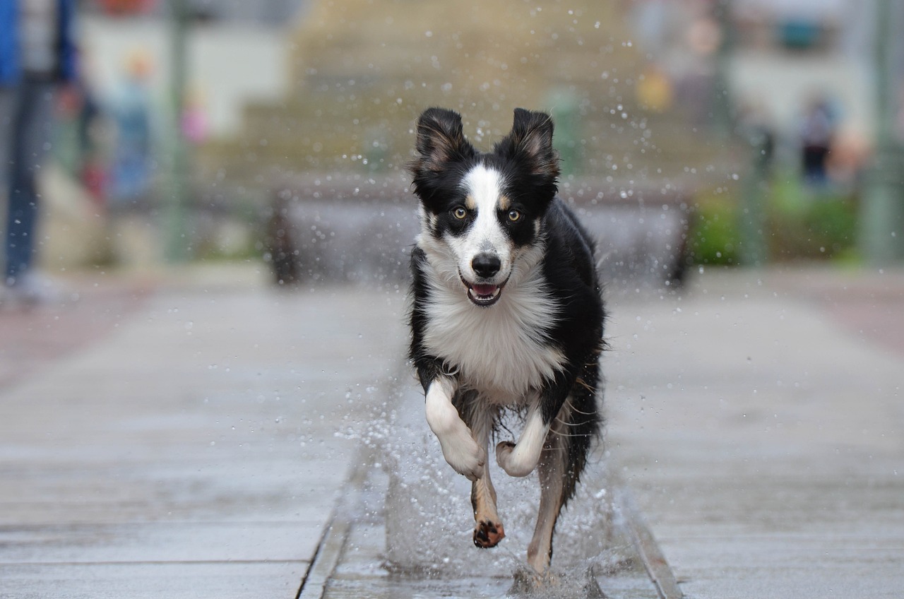
<instances>
[{"instance_id":1,"label":"dog's tan hind leg between its front paws, reddish paw pad showing","mask_svg":"<svg viewBox=\"0 0 904 599\"><path fill-rule=\"evenodd\" d=\"M470 401L468 401L470 400ZM462 418L471 429L474 440L479 447L486 449L493 433L493 423L498 409L483 402L475 401L474 395L459 398L457 407ZM495 547L505 537L502 520L496 511L496 490L490 480L488 463L471 484L471 506L474 508L474 544L477 547Z\"/></svg>"}]
</instances>

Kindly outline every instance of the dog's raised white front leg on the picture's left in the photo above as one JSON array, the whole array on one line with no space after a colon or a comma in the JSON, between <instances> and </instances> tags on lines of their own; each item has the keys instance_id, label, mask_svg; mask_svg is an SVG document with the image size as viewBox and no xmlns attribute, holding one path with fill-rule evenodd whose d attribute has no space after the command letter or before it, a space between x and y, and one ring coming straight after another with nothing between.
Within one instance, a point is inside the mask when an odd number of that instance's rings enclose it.
<instances>
[{"instance_id":1,"label":"dog's raised white front leg on the picture's left","mask_svg":"<svg viewBox=\"0 0 904 599\"><path fill-rule=\"evenodd\" d=\"M437 435L449 466L468 480L477 480L484 473L486 450L477 444L452 405L456 387L455 381L447 376L438 376L430 383L426 400L427 423Z\"/></svg>"}]
</instances>

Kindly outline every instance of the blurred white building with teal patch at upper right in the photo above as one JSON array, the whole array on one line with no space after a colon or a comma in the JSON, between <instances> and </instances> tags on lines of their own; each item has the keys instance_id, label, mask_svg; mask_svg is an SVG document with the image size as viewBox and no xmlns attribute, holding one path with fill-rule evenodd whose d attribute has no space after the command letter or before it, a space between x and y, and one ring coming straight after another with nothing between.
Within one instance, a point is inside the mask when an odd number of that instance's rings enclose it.
<instances>
[{"instance_id":1,"label":"blurred white building with teal patch at upper right","mask_svg":"<svg viewBox=\"0 0 904 599\"><path fill-rule=\"evenodd\" d=\"M795 136L816 103L840 134L870 138L874 121L874 3L735 0L730 82L736 101L766 110Z\"/></svg>"}]
</instances>

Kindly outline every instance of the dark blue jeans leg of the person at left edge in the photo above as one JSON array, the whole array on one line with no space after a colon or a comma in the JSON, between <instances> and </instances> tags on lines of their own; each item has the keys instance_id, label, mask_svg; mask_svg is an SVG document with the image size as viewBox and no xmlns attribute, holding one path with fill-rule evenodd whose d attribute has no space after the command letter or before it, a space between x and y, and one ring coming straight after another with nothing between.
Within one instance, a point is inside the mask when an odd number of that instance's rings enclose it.
<instances>
[{"instance_id":1,"label":"dark blue jeans leg of the person at left edge","mask_svg":"<svg viewBox=\"0 0 904 599\"><path fill-rule=\"evenodd\" d=\"M6 221L6 283L15 285L32 267L38 220L37 175L50 149L53 86L24 81L14 98Z\"/></svg>"}]
</instances>

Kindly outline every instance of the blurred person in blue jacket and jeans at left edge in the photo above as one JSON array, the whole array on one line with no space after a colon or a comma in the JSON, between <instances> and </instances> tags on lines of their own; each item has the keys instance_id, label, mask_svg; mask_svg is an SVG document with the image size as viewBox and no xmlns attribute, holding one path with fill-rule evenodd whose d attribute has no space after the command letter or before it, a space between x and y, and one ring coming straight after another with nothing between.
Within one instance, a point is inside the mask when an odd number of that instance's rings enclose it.
<instances>
[{"instance_id":1,"label":"blurred person in blue jacket and jeans at left edge","mask_svg":"<svg viewBox=\"0 0 904 599\"><path fill-rule=\"evenodd\" d=\"M36 179L51 145L54 100L74 93L75 11L76 0L0 2L0 183L8 194L5 295L30 303L50 293L33 269Z\"/></svg>"}]
</instances>

